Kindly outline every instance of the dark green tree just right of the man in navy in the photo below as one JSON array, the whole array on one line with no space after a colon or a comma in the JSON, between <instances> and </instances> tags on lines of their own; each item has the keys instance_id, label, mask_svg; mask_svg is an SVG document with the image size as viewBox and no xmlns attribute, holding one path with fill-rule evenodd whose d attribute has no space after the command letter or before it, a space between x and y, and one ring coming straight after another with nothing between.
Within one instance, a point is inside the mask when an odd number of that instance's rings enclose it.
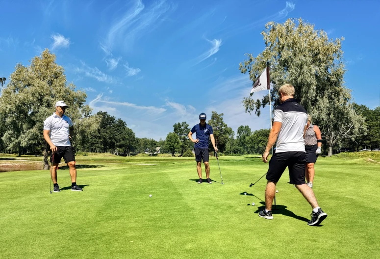
<instances>
[{"instance_id":1,"label":"dark green tree just right of the man in navy","mask_svg":"<svg viewBox=\"0 0 380 259\"><path fill-rule=\"evenodd\" d=\"M223 121L224 114L218 114L217 112L211 112L211 119L208 120L208 124L211 125L214 132L215 146L223 152L226 148L229 129L227 124ZM212 146L210 148L213 149Z\"/></svg>"}]
</instances>

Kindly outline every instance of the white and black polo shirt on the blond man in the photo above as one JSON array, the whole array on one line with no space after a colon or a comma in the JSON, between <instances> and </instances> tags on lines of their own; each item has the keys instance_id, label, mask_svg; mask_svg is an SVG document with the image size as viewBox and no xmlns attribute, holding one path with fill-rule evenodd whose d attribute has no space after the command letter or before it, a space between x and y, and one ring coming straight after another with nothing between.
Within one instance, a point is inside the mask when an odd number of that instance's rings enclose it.
<instances>
[{"instance_id":1,"label":"white and black polo shirt on the blond man","mask_svg":"<svg viewBox=\"0 0 380 259\"><path fill-rule=\"evenodd\" d=\"M287 99L276 106L274 121L282 123L277 138L276 153L301 151L305 152L304 127L307 113L296 99Z\"/></svg>"}]
</instances>

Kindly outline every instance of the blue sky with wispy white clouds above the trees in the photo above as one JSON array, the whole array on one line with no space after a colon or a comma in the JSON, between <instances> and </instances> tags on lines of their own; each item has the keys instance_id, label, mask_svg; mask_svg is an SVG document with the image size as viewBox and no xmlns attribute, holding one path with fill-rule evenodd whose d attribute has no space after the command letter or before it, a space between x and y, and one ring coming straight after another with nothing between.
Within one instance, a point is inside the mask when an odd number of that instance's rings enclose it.
<instances>
[{"instance_id":1,"label":"blue sky with wispy white clouds above the trees","mask_svg":"<svg viewBox=\"0 0 380 259\"><path fill-rule=\"evenodd\" d=\"M349 3L348 3L349 2ZM302 17L344 37L346 86L355 102L379 106L378 1L19 1L0 0L0 76L49 48L94 112L121 117L137 137L165 139L173 124L224 113L236 132L269 127L269 108L245 114L252 87L245 53L264 48L269 21ZM260 98L263 92L255 93Z\"/></svg>"}]
</instances>

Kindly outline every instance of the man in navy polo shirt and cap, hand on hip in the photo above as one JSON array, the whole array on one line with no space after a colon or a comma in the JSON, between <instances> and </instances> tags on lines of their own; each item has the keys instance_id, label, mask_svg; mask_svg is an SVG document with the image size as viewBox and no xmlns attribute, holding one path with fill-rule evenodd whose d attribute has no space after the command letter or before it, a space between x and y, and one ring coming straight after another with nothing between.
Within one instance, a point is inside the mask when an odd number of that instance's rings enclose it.
<instances>
[{"instance_id":1,"label":"man in navy polo shirt and cap, hand on hip","mask_svg":"<svg viewBox=\"0 0 380 259\"><path fill-rule=\"evenodd\" d=\"M197 172L199 176L198 183L202 183L202 167L201 162L204 163L204 171L206 171L207 183L212 183L210 179L210 166L208 165L208 139L211 139L211 143L214 146L215 152L218 151L218 148L215 146L214 134L212 127L206 123L206 114L202 113L199 115L200 123L195 125L189 134L187 135L189 139L195 143L195 161L197 162ZM193 139L191 135L197 135L197 139Z\"/></svg>"}]
</instances>

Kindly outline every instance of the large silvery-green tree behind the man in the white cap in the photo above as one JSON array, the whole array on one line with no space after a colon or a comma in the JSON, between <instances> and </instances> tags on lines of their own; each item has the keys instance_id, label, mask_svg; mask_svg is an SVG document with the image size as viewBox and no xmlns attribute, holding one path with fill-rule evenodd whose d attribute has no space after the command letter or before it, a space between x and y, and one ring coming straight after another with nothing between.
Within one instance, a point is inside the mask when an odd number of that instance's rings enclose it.
<instances>
[{"instance_id":1,"label":"large silvery-green tree behind the man in the white cap","mask_svg":"<svg viewBox=\"0 0 380 259\"><path fill-rule=\"evenodd\" d=\"M86 93L67 83L65 70L55 59L46 49L41 56L32 58L30 65L17 64L7 86L1 90L0 115L5 118L6 130L2 140L19 155L30 146L42 150L43 123L54 112L56 101L64 100L68 104L70 108L66 112L74 124L90 109L84 105ZM47 148L45 144L45 169L48 168Z\"/></svg>"}]
</instances>

